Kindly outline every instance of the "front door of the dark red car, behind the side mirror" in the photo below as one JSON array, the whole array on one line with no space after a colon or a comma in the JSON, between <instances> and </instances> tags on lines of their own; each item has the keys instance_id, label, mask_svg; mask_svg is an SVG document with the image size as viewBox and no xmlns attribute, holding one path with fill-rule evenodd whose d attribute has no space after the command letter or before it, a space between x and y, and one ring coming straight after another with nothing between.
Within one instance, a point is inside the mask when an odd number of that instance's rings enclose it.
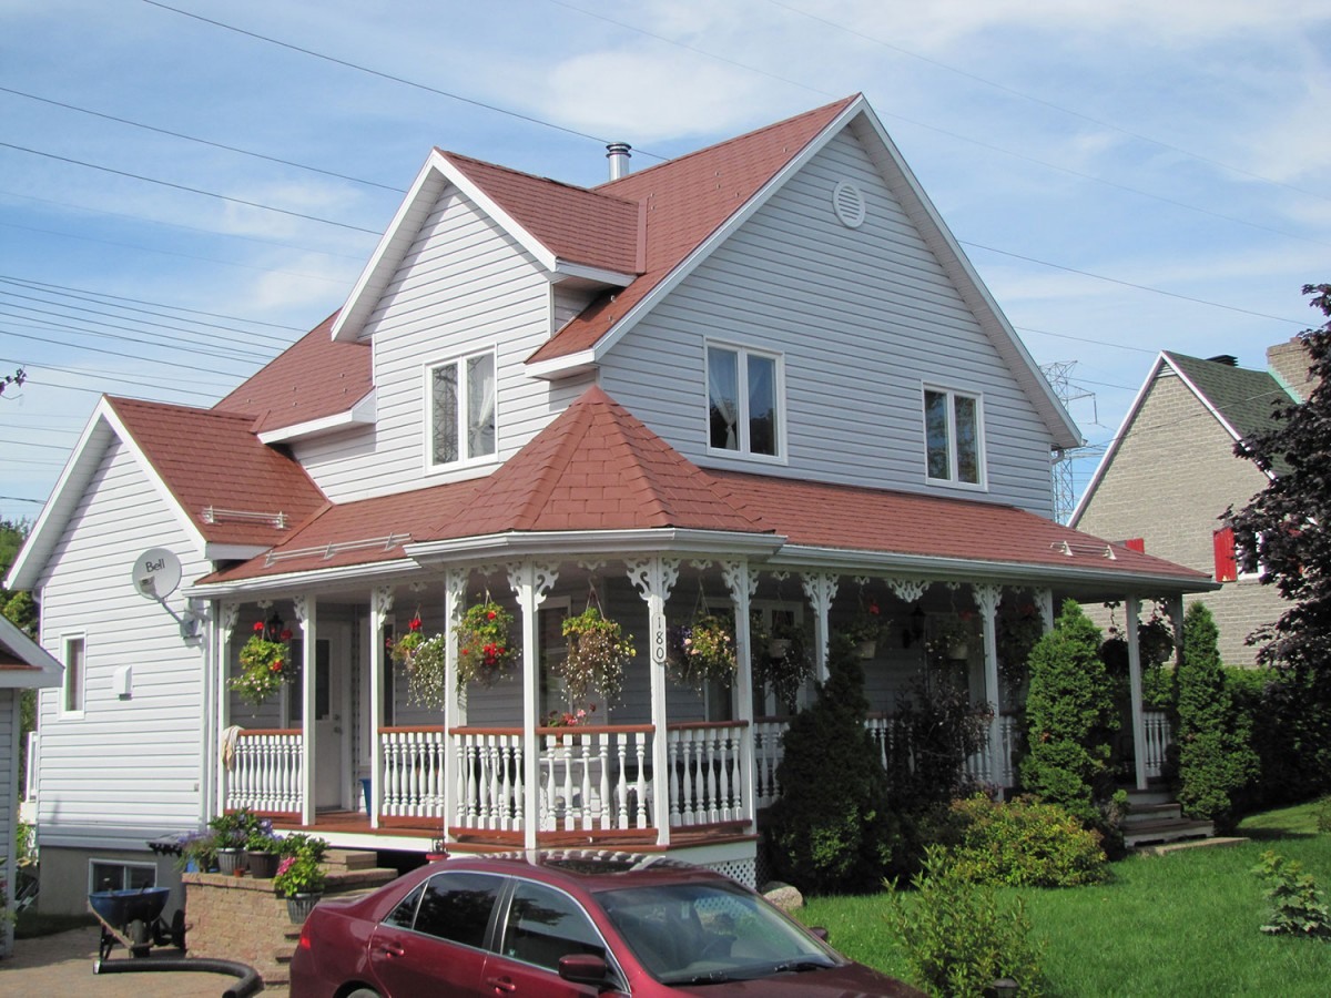
<instances>
[{"instance_id":1,"label":"front door of the dark red car, behind the side mirror","mask_svg":"<svg viewBox=\"0 0 1331 998\"><path fill-rule=\"evenodd\" d=\"M483 986L490 995L514 998L608 998L622 994L559 977L559 958L602 957L614 966L606 941L575 898L547 884L514 881L512 897L498 926L495 951L486 959Z\"/></svg>"}]
</instances>

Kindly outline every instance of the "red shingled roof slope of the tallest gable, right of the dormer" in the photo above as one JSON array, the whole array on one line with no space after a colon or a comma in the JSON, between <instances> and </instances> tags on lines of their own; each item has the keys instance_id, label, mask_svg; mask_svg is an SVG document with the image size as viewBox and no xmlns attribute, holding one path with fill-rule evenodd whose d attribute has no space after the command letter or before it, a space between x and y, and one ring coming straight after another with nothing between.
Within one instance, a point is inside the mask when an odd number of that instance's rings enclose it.
<instances>
[{"instance_id":1,"label":"red shingled roof slope of the tallest gable, right of the dormer","mask_svg":"<svg viewBox=\"0 0 1331 998\"><path fill-rule=\"evenodd\" d=\"M847 97L595 188L646 204L646 271L583 310L530 359L547 361L595 346L855 100Z\"/></svg>"}]
</instances>

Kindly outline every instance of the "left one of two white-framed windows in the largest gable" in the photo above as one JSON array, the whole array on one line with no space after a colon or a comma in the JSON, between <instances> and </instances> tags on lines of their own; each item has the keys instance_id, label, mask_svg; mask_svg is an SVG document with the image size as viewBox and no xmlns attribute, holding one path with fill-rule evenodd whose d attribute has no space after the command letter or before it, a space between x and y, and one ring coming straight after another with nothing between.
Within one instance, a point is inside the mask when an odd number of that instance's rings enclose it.
<instances>
[{"instance_id":1,"label":"left one of two white-framed windows in the largest gable","mask_svg":"<svg viewBox=\"0 0 1331 998\"><path fill-rule=\"evenodd\" d=\"M709 450L780 456L780 357L708 343L707 418Z\"/></svg>"}]
</instances>

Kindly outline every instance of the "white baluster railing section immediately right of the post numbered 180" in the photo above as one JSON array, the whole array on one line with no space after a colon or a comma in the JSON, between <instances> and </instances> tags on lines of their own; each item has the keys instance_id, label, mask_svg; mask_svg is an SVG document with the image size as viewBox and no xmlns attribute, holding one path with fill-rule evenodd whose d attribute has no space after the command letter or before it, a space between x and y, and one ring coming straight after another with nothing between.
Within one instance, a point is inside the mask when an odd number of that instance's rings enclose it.
<instances>
[{"instance_id":1,"label":"white baluster railing section immediately right of the post numbered 180","mask_svg":"<svg viewBox=\"0 0 1331 998\"><path fill-rule=\"evenodd\" d=\"M743 744L735 721L671 725L671 828L744 821Z\"/></svg>"}]
</instances>

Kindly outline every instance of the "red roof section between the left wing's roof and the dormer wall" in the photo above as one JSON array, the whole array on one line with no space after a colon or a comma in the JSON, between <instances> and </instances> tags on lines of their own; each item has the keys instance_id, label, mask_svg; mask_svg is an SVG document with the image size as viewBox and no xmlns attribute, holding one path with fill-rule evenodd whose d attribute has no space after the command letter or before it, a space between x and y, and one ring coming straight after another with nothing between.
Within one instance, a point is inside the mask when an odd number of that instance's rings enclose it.
<instances>
[{"instance_id":1,"label":"red roof section between the left wing's roof and the dormer wall","mask_svg":"<svg viewBox=\"0 0 1331 998\"><path fill-rule=\"evenodd\" d=\"M248 415L254 432L349 411L374 389L369 343L334 342L337 313L261 367L213 409Z\"/></svg>"}]
</instances>

